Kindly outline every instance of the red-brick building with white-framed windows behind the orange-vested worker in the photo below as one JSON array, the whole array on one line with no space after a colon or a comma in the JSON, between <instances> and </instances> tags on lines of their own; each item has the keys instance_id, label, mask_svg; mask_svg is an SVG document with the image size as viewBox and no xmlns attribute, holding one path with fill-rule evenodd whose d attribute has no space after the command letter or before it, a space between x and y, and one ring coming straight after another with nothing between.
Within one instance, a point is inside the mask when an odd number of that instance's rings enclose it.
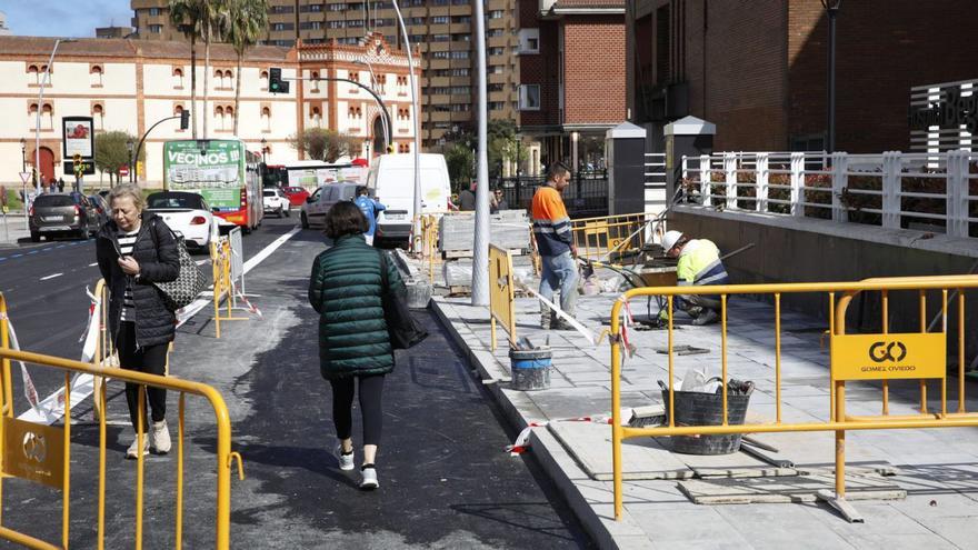
<instances>
[{"instance_id":1,"label":"red-brick building with white-framed windows behind the orange-vested worker","mask_svg":"<svg viewBox=\"0 0 978 550\"><path fill-rule=\"evenodd\" d=\"M519 7L519 124L530 140L528 164L600 166L605 132L626 117L625 1Z\"/></svg>"}]
</instances>

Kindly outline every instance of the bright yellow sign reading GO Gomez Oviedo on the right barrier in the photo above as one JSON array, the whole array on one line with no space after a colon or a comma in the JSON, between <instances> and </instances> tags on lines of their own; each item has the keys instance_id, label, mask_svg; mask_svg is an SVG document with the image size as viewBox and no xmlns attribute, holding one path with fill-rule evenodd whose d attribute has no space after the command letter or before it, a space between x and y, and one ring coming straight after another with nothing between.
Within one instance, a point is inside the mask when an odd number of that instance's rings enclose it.
<instances>
[{"instance_id":1,"label":"bright yellow sign reading GO Gomez Oviedo on the right barrier","mask_svg":"<svg viewBox=\"0 0 978 550\"><path fill-rule=\"evenodd\" d=\"M891 380L945 378L947 334L844 334L832 337L832 378Z\"/></svg>"}]
</instances>

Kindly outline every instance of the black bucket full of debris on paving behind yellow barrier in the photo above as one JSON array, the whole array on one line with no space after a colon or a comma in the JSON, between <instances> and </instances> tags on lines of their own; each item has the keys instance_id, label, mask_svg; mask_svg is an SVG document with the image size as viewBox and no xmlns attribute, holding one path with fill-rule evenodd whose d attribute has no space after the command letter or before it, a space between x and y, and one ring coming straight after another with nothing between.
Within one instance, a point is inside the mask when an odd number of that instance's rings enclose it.
<instances>
[{"instance_id":1,"label":"black bucket full of debris on paving behind yellow barrier","mask_svg":"<svg viewBox=\"0 0 978 550\"><path fill-rule=\"evenodd\" d=\"M750 394L727 393L727 423L744 424ZM669 391L662 390L662 404L669 414ZM677 391L676 426L720 426L723 423L723 396L699 391ZM668 422L668 418L667 418ZM672 451L682 454L729 454L740 450L740 433L728 436L676 436L669 438Z\"/></svg>"}]
</instances>

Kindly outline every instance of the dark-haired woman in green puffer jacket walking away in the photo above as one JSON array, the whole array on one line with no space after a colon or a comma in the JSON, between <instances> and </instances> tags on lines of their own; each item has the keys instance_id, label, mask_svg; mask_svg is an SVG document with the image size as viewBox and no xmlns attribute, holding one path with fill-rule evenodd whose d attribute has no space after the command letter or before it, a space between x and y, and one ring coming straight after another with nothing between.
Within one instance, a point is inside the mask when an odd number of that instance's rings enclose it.
<instances>
[{"instance_id":1,"label":"dark-haired woman in green puffer jacket walking away","mask_svg":"<svg viewBox=\"0 0 978 550\"><path fill-rule=\"evenodd\" d=\"M326 214L329 250L316 257L309 278L309 303L319 313L319 370L332 387L332 419L339 442L333 453L341 470L353 469L355 382L363 417L360 488L377 489L377 446L382 429L383 376L393 370L393 350L383 320L381 292L405 284L393 262L367 244L367 219L352 202L338 202Z\"/></svg>"}]
</instances>

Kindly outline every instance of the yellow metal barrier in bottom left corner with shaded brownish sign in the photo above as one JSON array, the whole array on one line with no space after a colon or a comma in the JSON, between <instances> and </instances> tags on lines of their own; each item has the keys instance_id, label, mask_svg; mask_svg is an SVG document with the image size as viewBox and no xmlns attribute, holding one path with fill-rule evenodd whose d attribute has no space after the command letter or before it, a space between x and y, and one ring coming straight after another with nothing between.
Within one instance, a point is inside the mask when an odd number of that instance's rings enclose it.
<instances>
[{"instance_id":1,"label":"yellow metal barrier in bottom left corner with shaded brownish sign","mask_svg":"<svg viewBox=\"0 0 978 550\"><path fill-rule=\"evenodd\" d=\"M2 476L0 476L0 511L2 511L2 482L4 477L19 477L33 480L46 486L60 489L62 492L61 543L60 546L37 539L23 532L0 524L0 538L37 549L67 549L70 540L70 479L71 479L71 374L88 373L93 377L106 377L119 382L163 388L180 393L177 432L177 509L176 509L176 547L182 546L183 529L183 439L184 439L184 398L188 393L207 399L214 411L217 427L217 500L216 500L216 538L214 546L219 549L229 548L230 510L231 510L231 462L237 461L238 476L243 478L241 457L231 451L231 422L228 408L221 394L210 386L169 377L147 374L134 370L100 368L70 359L43 356L28 351L10 349L7 323L7 302L0 292L0 371L2 371L2 410L4 416L0 422L0 454L3 457ZM64 372L64 426L63 428L24 422L13 418L13 392L10 377L10 361L23 361ZM146 418L146 386L140 388L139 418ZM101 410L106 410L106 384L101 384L94 399ZM138 431L139 447L142 438L148 437ZM142 502L143 502L143 457L138 453L136 486L136 548L142 548ZM98 548L104 548L106 540L106 416L99 419L99 498L98 498ZM2 518L0 518L2 519Z\"/></svg>"}]
</instances>

